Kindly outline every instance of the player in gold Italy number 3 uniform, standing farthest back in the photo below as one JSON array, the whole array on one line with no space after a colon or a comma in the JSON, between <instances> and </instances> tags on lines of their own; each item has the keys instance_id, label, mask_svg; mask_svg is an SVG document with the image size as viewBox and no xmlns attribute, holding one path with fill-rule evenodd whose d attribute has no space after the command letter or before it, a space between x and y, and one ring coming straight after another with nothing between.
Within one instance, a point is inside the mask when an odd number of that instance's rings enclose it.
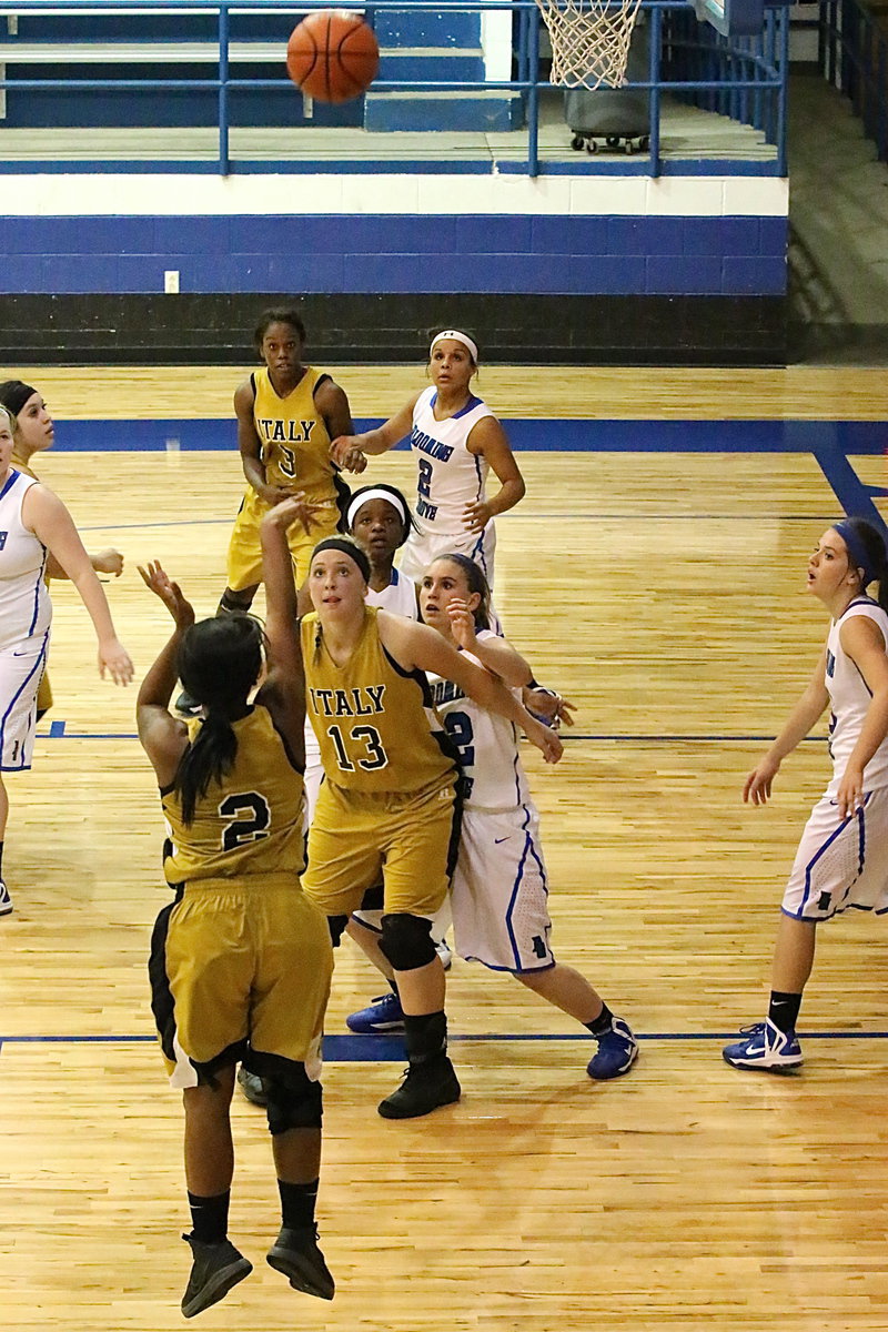
<instances>
[{"instance_id":1,"label":"player in gold Italy number 3 uniform, standing farthest back","mask_svg":"<svg viewBox=\"0 0 888 1332\"><path fill-rule=\"evenodd\" d=\"M309 571L316 543L342 521L349 490L330 458L330 441L350 434L351 409L329 374L302 364L305 325L294 309L269 309L254 332L262 369L248 376L234 393L237 442L248 488L228 547L228 586L217 614L246 611L262 581L260 523L288 496L300 494L312 506L310 535L296 523L289 531L297 585ZM357 456L347 464L362 472ZM198 713L188 690L176 699L177 711Z\"/></svg>"}]
</instances>

